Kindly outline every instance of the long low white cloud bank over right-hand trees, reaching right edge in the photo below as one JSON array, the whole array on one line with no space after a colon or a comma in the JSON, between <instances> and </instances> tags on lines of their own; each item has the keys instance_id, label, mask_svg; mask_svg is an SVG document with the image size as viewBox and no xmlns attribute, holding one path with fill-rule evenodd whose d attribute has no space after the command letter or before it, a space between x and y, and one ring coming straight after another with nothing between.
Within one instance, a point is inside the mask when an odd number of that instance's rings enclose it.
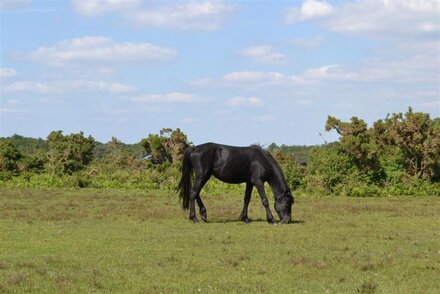
<instances>
[{"instance_id":1,"label":"long low white cloud bank over right-hand trees, reaching right edge","mask_svg":"<svg viewBox=\"0 0 440 294\"><path fill-rule=\"evenodd\" d=\"M285 74L265 71L236 71L220 78L206 78L192 84L197 87L238 87L240 90L264 88L278 90L294 89L295 93L305 89L316 89L324 83L353 85L356 83L405 83L438 87L439 59L430 54L415 55L407 58L389 60L383 58L368 59L353 68L340 64L326 64L310 68L299 74ZM289 90L290 91L290 90ZM258 95L257 92L255 94ZM244 103L243 97L237 98L236 104ZM231 103L231 102L230 102Z\"/></svg>"}]
</instances>

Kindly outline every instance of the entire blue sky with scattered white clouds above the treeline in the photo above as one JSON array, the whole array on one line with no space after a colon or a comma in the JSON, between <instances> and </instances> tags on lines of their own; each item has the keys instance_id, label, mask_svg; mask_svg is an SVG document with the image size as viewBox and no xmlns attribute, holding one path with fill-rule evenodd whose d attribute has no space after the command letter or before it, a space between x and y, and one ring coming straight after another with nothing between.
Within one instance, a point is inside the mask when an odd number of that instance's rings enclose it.
<instances>
[{"instance_id":1,"label":"entire blue sky with scattered white clouds above the treeline","mask_svg":"<svg viewBox=\"0 0 440 294\"><path fill-rule=\"evenodd\" d=\"M440 0L0 3L0 136L309 145L327 115L440 115Z\"/></svg>"}]
</instances>

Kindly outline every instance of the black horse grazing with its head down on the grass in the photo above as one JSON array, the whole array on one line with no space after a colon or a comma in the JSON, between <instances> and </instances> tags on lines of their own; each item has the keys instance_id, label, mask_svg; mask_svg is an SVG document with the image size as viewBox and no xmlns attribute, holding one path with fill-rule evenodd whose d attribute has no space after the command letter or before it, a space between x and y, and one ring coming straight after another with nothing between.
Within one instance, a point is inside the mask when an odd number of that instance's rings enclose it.
<instances>
[{"instance_id":1,"label":"black horse grazing with its head down on the grass","mask_svg":"<svg viewBox=\"0 0 440 294\"><path fill-rule=\"evenodd\" d=\"M195 179L191 187L193 171ZM200 198L200 191L211 176L226 183L246 183L244 206L240 215L242 221L250 222L247 213L252 189L255 186L266 209L267 221L271 224L275 223L264 191L265 182L269 183L275 195L275 210L281 222L292 221L291 213L294 202L292 193L275 159L260 146L234 147L206 143L185 151L178 190L182 207L189 209L189 219L194 223L198 223L195 200L199 205L203 221L207 221L206 207Z\"/></svg>"}]
</instances>

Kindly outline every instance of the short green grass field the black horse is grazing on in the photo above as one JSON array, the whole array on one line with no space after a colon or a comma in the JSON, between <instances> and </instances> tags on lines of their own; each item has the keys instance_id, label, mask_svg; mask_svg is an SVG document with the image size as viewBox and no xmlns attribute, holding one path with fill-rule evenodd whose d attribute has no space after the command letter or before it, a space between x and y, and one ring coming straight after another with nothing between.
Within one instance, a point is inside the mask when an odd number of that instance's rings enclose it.
<instances>
[{"instance_id":1,"label":"short green grass field the black horse is grazing on","mask_svg":"<svg viewBox=\"0 0 440 294\"><path fill-rule=\"evenodd\" d=\"M171 193L0 189L0 292L440 293L438 197L300 197L278 226L204 199L193 225Z\"/></svg>"}]
</instances>

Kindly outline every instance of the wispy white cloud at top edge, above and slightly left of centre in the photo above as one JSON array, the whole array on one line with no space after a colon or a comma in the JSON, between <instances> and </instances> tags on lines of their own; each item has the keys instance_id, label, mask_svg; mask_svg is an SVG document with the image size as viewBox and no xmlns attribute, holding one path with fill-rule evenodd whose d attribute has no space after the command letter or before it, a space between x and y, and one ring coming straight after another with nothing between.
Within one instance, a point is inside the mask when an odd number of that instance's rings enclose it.
<instances>
[{"instance_id":1,"label":"wispy white cloud at top edge, above and slightly left of centre","mask_svg":"<svg viewBox=\"0 0 440 294\"><path fill-rule=\"evenodd\" d=\"M235 6L223 1L190 1L131 10L125 17L135 26L214 31L223 26Z\"/></svg>"}]
</instances>

